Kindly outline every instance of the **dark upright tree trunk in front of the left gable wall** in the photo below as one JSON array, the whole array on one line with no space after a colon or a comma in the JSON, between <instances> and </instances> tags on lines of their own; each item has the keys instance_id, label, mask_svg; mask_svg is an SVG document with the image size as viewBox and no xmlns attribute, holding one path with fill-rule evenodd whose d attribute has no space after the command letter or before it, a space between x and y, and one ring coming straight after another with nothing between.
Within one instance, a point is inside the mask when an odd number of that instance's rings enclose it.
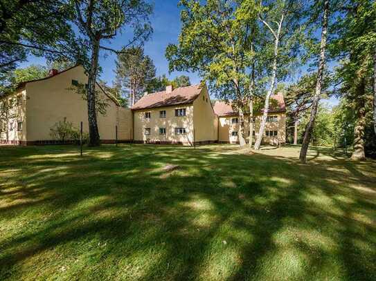
<instances>
[{"instance_id":1,"label":"dark upright tree trunk in front of the left gable wall","mask_svg":"<svg viewBox=\"0 0 376 281\"><path fill-rule=\"evenodd\" d=\"M100 137L96 117L96 76L98 72L99 40L93 39L91 68L87 81L87 114L89 119L89 146L99 146Z\"/></svg>"}]
</instances>

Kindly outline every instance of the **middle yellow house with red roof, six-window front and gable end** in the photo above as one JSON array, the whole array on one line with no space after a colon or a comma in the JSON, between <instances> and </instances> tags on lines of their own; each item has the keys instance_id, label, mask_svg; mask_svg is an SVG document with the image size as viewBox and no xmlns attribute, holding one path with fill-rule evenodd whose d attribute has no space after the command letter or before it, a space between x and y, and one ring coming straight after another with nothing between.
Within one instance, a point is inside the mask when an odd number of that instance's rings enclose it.
<instances>
[{"instance_id":1,"label":"middle yellow house with red roof, six-window front and gable end","mask_svg":"<svg viewBox=\"0 0 376 281\"><path fill-rule=\"evenodd\" d=\"M217 142L217 115L205 85L144 95L132 106L134 142L184 144Z\"/></svg>"}]
</instances>

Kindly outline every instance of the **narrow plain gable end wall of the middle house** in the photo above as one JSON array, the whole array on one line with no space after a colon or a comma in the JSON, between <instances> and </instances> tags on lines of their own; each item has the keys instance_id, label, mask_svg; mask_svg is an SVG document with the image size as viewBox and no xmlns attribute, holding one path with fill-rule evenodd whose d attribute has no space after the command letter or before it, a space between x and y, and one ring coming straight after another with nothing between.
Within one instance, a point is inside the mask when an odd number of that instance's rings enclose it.
<instances>
[{"instance_id":1,"label":"narrow plain gable end wall of the middle house","mask_svg":"<svg viewBox=\"0 0 376 281\"><path fill-rule=\"evenodd\" d=\"M215 115L206 86L193 102L193 122L195 142L216 142L218 137L218 118Z\"/></svg>"}]
</instances>

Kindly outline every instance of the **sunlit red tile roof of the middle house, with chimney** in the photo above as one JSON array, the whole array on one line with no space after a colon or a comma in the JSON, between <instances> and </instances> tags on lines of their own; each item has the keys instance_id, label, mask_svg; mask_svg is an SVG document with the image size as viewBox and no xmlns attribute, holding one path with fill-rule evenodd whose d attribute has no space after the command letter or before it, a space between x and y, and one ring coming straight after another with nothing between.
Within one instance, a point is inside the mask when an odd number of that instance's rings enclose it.
<instances>
[{"instance_id":1,"label":"sunlit red tile roof of the middle house, with chimney","mask_svg":"<svg viewBox=\"0 0 376 281\"><path fill-rule=\"evenodd\" d=\"M191 104L201 93L202 85L197 84L188 87L181 87L172 90L171 93L166 93L165 90L157 93L144 95L139 99L132 110L144 108L156 108L162 106L174 106L179 104Z\"/></svg>"}]
</instances>

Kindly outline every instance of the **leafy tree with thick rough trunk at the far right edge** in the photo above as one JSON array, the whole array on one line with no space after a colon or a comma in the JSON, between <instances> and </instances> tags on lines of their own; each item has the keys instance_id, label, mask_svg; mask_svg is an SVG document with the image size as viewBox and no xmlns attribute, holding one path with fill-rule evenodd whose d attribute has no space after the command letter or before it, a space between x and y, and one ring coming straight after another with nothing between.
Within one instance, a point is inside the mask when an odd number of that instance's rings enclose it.
<instances>
[{"instance_id":1,"label":"leafy tree with thick rough trunk at the far right edge","mask_svg":"<svg viewBox=\"0 0 376 281\"><path fill-rule=\"evenodd\" d=\"M376 4L370 0L343 1L339 7L332 56L341 58L337 69L338 93L355 112L352 159L365 158L365 135L372 111L376 46ZM374 121L375 122L375 121Z\"/></svg>"}]
</instances>

